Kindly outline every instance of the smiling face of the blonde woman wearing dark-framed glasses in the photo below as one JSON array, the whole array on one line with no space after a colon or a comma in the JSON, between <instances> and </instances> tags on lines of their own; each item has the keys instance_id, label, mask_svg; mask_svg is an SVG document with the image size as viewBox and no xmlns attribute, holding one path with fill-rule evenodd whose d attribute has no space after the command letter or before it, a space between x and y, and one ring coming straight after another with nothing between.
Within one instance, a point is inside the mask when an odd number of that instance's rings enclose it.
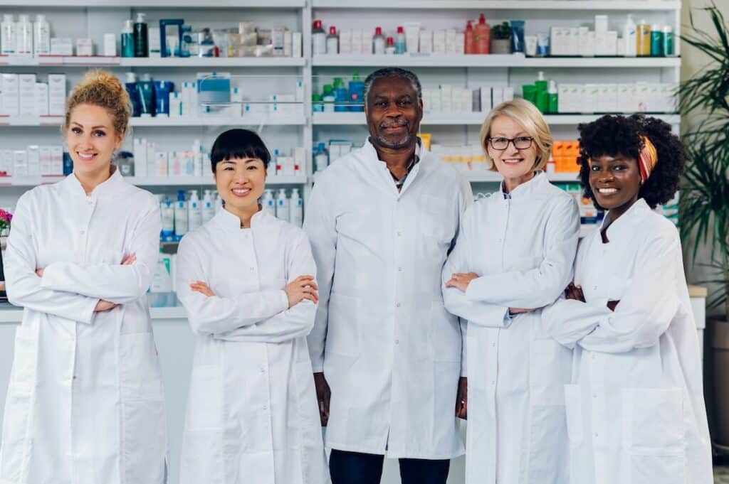
<instances>
[{"instance_id":1,"label":"smiling face of the blonde woman wearing dark-framed glasses","mask_svg":"<svg viewBox=\"0 0 729 484\"><path fill-rule=\"evenodd\" d=\"M530 139L529 148L518 149L514 146L514 143L520 143L518 138L531 138L521 124L518 124L509 116L496 116L494 121L491 122L489 137L492 138L492 141L486 140L488 156L494 160L496 170L506 180L516 180L523 183L532 178L534 165L537 163L537 143ZM503 143L503 139L499 138L514 140L514 142L508 143L504 150L497 150L492 146L492 142L497 145ZM521 140L521 143L526 144L527 140Z\"/></svg>"}]
</instances>

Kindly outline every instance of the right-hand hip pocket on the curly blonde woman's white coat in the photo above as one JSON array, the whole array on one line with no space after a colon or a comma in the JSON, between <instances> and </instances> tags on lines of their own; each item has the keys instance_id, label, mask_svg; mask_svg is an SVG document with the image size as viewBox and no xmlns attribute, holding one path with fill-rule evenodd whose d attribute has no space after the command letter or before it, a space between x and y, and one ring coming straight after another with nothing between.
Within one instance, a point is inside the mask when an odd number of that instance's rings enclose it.
<instances>
[{"instance_id":1,"label":"right-hand hip pocket on the curly blonde woman's white coat","mask_svg":"<svg viewBox=\"0 0 729 484\"><path fill-rule=\"evenodd\" d=\"M128 333L119 341L122 400L163 400L160 363L152 333Z\"/></svg>"}]
</instances>

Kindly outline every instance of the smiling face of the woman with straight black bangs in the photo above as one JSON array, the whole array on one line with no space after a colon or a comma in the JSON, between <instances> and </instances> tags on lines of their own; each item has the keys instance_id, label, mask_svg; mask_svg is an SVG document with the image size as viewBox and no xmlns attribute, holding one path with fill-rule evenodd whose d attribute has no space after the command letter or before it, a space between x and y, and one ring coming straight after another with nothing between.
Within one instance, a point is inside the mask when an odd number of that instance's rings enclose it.
<instances>
[{"instance_id":1,"label":"smiling face of the woman with straight black bangs","mask_svg":"<svg viewBox=\"0 0 729 484\"><path fill-rule=\"evenodd\" d=\"M230 158L215 166L215 185L225 209L235 215L258 210L265 189L265 164L258 158Z\"/></svg>"}]
</instances>

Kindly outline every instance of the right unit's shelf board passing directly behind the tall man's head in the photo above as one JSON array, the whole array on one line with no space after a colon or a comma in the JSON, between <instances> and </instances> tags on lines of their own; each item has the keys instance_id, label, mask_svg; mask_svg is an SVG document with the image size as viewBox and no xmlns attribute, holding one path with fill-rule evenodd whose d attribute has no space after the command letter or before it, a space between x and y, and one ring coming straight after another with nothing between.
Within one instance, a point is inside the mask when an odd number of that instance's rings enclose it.
<instances>
[{"instance_id":1,"label":"right unit's shelf board passing directly behind the tall man's head","mask_svg":"<svg viewBox=\"0 0 729 484\"><path fill-rule=\"evenodd\" d=\"M525 0L526 1L526 0ZM576 126L580 123L589 123L603 114L548 114L545 116L550 126ZM628 114L625 114L628 116ZM649 114L668 124L679 124L681 116L678 114ZM423 116L423 125L469 125L480 126L486 118L486 113L426 113ZM314 113L313 124L318 125L357 125L366 124L364 113Z\"/></svg>"}]
</instances>

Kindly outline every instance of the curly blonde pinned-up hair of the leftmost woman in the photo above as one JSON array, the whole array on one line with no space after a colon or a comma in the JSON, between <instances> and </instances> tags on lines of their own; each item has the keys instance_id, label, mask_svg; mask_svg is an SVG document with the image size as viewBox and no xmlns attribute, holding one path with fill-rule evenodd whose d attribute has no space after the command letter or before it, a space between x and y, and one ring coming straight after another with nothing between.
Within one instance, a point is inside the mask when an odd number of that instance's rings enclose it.
<instances>
[{"instance_id":1,"label":"curly blonde pinned-up hair of the leftmost woman","mask_svg":"<svg viewBox=\"0 0 729 484\"><path fill-rule=\"evenodd\" d=\"M69 129L71 111L81 104L90 104L106 109L112 116L117 135L125 135L132 115L132 103L124 85L117 76L107 71L88 71L66 99L66 119L63 131Z\"/></svg>"}]
</instances>

